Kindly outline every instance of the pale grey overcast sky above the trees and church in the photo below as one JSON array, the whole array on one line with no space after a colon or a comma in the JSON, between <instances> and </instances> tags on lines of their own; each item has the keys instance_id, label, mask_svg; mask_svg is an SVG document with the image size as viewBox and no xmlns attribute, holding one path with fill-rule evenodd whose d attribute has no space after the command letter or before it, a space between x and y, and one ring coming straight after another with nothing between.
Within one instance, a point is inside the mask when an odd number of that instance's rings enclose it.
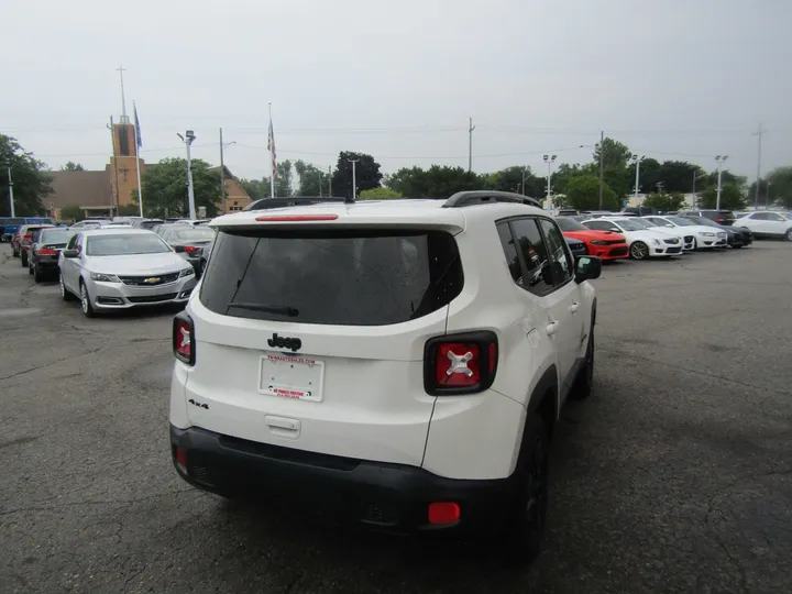
<instances>
[{"instance_id":1,"label":"pale grey overcast sky above the trees and church","mask_svg":"<svg viewBox=\"0 0 792 594\"><path fill-rule=\"evenodd\" d=\"M591 158L600 130L634 152L756 176L792 164L791 0L31 0L4 2L0 132L51 167L102 168L110 116L138 105L142 156L268 175L341 150L403 166Z\"/></svg>"}]
</instances>

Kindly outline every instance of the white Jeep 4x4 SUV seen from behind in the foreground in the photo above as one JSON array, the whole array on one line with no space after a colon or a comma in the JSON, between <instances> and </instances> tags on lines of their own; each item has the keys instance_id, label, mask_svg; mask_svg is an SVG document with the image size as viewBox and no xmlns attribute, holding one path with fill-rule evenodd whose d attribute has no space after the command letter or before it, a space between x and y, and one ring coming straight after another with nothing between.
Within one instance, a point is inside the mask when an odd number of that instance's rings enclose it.
<instances>
[{"instance_id":1,"label":"white Jeep 4x4 SUV seen from behind in the foreground","mask_svg":"<svg viewBox=\"0 0 792 594\"><path fill-rule=\"evenodd\" d=\"M373 528L506 532L530 559L553 426L591 389L601 264L574 262L529 201L315 199L215 219L174 320L179 475Z\"/></svg>"}]
</instances>

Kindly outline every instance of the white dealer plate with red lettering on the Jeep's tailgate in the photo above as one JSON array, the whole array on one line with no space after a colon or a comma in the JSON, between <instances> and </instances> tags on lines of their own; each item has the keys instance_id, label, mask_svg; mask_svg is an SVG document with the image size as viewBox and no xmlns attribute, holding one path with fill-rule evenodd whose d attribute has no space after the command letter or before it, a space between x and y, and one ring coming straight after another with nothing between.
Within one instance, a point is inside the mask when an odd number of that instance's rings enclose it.
<instances>
[{"instance_id":1,"label":"white dealer plate with red lettering on the Jeep's tailgate","mask_svg":"<svg viewBox=\"0 0 792 594\"><path fill-rule=\"evenodd\" d=\"M262 394L320 403L323 380L323 361L282 353L267 353L261 358L258 392Z\"/></svg>"}]
</instances>

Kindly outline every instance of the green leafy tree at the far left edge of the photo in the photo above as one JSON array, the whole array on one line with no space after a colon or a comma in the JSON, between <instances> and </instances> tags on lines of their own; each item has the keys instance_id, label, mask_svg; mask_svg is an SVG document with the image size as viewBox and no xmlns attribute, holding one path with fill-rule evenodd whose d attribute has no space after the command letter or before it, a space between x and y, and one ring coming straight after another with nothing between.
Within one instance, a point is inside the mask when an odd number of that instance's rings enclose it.
<instances>
[{"instance_id":1,"label":"green leafy tree at the far left edge of the photo","mask_svg":"<svg viewBox=\"0 0 792 594\"><path fill-rule=\"evenodd\" d=\"M8 167L13 182L14 213L18 217L43 215L42 199L52 193L46 164L22 148L16 139L0 134L0 216L11 216Z\"/></svg>"}]
</instances>

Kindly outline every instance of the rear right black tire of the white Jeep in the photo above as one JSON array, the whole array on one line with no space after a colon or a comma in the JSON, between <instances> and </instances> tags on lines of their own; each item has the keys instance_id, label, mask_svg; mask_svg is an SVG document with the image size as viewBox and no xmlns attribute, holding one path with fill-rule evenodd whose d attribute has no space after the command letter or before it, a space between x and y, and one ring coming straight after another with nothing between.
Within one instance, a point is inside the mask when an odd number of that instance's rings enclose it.
<instances>
[{"instance_id":1,"label":"rear right black tire of the white Jeep","mask_svg":"<svg viewBox=\"0 0 792 594\"><path fill-rule=\"evenodd\" d=\"M520 485L504 542L508 560L519 564L528 564L539 554L548 507L550 435L536 413L526 419L525 436L518 469Z\"/></svg>"}]
</instances>

